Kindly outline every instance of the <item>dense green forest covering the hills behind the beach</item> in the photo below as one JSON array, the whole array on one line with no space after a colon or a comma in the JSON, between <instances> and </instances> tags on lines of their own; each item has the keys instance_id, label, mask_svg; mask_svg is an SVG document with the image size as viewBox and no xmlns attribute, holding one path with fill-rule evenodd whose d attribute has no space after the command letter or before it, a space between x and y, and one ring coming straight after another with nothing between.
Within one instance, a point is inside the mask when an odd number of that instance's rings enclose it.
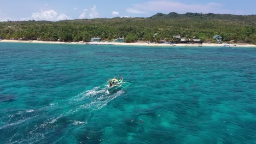
<instances>
[{"instance_id":1,"label":"dense green forest covering the hills behind the beach","mask_svg":"<svg viewBox=\"0 0 256 144\"><path fill-rule=\"evenodd\" d=\"M174 41L172 35L181 35L216 43L212 38L216 34L223 41L256 44L256 15L158 13L134 18L0 22L0 37L4 39L90 41L93 37L102 40L124 37L128 43L136 40L159 43Z\"/></svg>"}]
</instances>

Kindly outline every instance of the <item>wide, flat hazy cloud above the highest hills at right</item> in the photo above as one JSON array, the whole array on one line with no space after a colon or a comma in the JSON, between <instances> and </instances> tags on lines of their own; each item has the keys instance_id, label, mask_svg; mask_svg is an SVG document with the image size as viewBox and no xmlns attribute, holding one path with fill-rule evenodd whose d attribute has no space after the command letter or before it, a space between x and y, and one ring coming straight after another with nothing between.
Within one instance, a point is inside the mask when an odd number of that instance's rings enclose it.
<instances>
[{"instance_id":1,"label":"wide, flat hazy cloud above the highest hills at right","mask_svg":"<svg viewBox=\"0 0 256 144\"><path fill-rule=\"evenodd\" d=\"M126 9L129 13L143 14L143 13L231 13L231 11L223 9L222 4L206 3L206 4L185 4L181 2L170 1L150 1L145 3L133 4L131 8Z\"/></svg>"}]
</instances>

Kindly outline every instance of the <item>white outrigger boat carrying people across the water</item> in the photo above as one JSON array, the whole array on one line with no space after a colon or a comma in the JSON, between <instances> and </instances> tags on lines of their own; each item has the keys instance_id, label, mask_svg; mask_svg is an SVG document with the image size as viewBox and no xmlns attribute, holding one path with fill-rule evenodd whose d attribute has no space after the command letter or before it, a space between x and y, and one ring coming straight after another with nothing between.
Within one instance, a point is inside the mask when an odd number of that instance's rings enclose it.
<instances>
[{"instance_id":1,"label":"white outrigger boat carrying people across the water","mask_svg":"<svg viewBox=\"0 0 256 144\"><path fill-rule=\"evenodd\" d=\"M120 80L118 80L117 77L115 77L114 79L108 80L106 83L104 83L102 86L107 87L108 89L112 89L112 88L121 88L121 89L125 89L126 87L129 87L132 83L130 82L124 82L123 81L123 77L121 77Z\"/></svg>"}]
</instances>

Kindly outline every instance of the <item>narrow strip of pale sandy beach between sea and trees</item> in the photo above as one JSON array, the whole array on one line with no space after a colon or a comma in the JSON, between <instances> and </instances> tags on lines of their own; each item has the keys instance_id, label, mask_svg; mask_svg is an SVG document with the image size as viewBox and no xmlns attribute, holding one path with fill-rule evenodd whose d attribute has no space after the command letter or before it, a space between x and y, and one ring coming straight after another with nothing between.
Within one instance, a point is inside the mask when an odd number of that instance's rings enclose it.
<instances>
[{"instance_id":1,"label":"narrow strip of pale sandy beach between sea and trees","mask_svg":"<svg viewBox=\"0 0 256 144\"><path fill-rule=\"evenodd\" d=\"M37 43L37 44L80 44L80 45L86 45L86 43L80 43L80 42L63 42L63 41L38 41L38 40L0 40L0 43ZM154 43L110 43L110 42L88 42L89 45L129 45L129 46L170 46L171 44L154 44ZM175 46L193 46L193 47L199 47L199 46L216 46L216 47L223 47L224 44L213 44L213 43L202 43L202 44L175 44ZM230 47L256 47L256 45L253 44L228 44Z\"/></svg>"}]
</instances>

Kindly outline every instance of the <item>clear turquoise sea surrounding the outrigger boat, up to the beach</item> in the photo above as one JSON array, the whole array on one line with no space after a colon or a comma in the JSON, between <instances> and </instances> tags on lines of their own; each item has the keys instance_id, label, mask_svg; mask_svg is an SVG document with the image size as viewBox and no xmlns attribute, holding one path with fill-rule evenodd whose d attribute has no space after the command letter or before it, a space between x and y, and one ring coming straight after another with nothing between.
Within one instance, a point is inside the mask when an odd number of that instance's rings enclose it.
<instances>
[{"instance_id":1,"label":"clear turquoise sea surrounding the outrigger boat, up to the beach","mask_svg":"<svg viewBox=\"0 0 256 144\"><path fill-rule=\"evenodd\" d=\"M0 143L256 143L255 103L255 48L0 43Z\"/></svg>"}]
</instances>

